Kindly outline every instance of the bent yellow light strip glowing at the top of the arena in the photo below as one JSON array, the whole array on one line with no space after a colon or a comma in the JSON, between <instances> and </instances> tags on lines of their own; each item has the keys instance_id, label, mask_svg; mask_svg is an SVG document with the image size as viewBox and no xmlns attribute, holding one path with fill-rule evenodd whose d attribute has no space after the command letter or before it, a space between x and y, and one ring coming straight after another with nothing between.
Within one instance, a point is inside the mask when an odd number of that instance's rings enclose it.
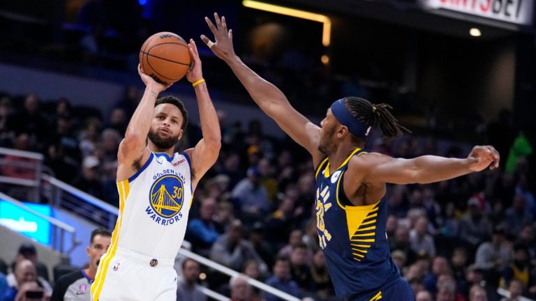
<instances>
[{"instance_id":1,"label":"bent yellow light strip glowing at the top of the arena","mask_svg":"<svg viewBox=\"0 0 536 301\"><path fill-rule=\"evenodd\" d=\"M297 10L295 8L276 6L274 4L253 1L253 0L244 0L242 1L242 5L246 6L246 8L255 8L258 10L265 10L270 13L278 13L280 15L289 15L291 17L299 17L301 19L320 22L324 24L323 29L322 29L322 45L329 46L329 43L331 42L332 20L329 20L329 17L325 15L311 13L305 10Z\"/></svg>"}]
</instances>

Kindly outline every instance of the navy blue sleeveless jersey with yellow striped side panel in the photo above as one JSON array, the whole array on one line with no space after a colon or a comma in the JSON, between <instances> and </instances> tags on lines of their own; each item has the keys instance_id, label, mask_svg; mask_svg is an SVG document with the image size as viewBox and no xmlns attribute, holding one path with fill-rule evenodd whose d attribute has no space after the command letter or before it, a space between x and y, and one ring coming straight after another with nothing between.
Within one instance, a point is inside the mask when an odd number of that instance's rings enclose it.
<instances>
[{"instance_id":1,"label":"navy blue sleeveless jersey with yellow striped side panel","mask_svg":"<svg viewBox=\"0 0 536 301\"><path fill-rule=\"evenodd\" d=\"M344 179L348 162L352 156L362 153L366 152L355 149L333 173L329 171L327 158L318 165L315 173L318 237L336 295L354 300L362 293L378 291L374 300L379 300L380 289L400 279L400 273L387 243L387 203L378 200L372 205L351 206L344 195L342 181L351 180Z\"/></svg>"}]
</instances>

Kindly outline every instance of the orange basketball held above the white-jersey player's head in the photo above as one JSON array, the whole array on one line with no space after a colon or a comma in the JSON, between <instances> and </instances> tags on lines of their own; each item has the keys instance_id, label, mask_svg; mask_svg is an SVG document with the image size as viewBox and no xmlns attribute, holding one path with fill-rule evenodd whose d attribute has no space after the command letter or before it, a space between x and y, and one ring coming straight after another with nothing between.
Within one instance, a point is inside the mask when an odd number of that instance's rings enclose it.
<instances>
[{"instance_id":1,"label":"orange basketball held above the white-jersey player's head","mask_svg":"<svg viewBox=\"0 0 536 301\"><path fill-rule=\"evenodd\" d=\"M140 64L143 72L156 82L173 84L183 78L192 65L188 43L175 33L155 33L140 49Z\"/></svg>"}]
</instances>

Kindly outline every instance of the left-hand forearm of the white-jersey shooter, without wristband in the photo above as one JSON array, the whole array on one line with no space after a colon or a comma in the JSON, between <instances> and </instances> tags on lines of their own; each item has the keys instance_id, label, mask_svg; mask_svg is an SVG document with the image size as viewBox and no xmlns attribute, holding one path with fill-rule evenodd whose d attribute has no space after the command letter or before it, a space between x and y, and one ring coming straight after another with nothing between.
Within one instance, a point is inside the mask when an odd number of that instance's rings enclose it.
<instances>
[{"instance_id":1,"label":"left-hand forearm of the white-jersey shooter, without wristband","mask_svg":"<svg viewBox=\"0 0 536 301\"><path fill-rule=\"evenodd\" d=\"M147 139L147 134L151 128L154 103L156 102L156 98L158 98L157 91L157 89L151 88L151 86L145 88L142 100L137 105L134 114L132 114L131 121L126 128L125 139L139 140L145 143L145 139Z\"/></svg>"}]
</instances>

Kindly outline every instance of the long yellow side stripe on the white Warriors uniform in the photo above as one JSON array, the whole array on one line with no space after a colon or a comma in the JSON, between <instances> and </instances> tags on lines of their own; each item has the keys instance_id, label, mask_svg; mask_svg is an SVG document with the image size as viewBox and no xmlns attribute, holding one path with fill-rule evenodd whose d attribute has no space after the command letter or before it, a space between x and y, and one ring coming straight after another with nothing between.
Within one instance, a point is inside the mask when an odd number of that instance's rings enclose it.
<instances>
[{"instance_id":1,"label":"long yellow side stripe on the white Warriors uniform","mask_svg":"<svg viewBox=\"0 0 536 301\"><path fill-rule=\"evenodd\" d=\"M115 224L114 232L112 233L112 245L108 248L106 255L104 256L102 262L99 265L102 265L100 273L96 277L95 283L91 286L91 298L92 300L97 300L101 295L103 289L104 281L106 279L106 272L108 270L108 265L110 261L115 256L117 250L117 241L119 240L119 232L121 231L121 222L123 221L123 210L125 208L125 201L130 192L130 185L127 180L122 180L117 182L117 190L119 191L119 220Z\"/></svg>"}]
</instances>

